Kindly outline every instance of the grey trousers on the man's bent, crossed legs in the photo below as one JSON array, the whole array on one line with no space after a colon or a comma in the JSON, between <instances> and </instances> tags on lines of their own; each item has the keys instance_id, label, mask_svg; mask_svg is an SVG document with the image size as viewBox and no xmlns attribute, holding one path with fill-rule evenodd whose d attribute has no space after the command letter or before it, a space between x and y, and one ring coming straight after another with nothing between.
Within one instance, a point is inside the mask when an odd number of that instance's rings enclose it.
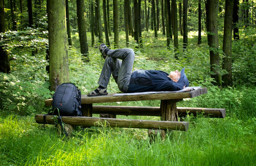
<instances>
[{"instance_id":1,"label":"grey trousers on the man's bent, crossed legs","mask_svg":"<svg viewBox=\"0 0 256 166\"><path fill-rule=\"evenodd\" d=\"M120 91L126 93L133 69L134 52L132 49L124 48L109 50L107 55L98 84L106 88L112 74ZM122 59L122 62L119 59Z\"/></svg>"}]
</instances>

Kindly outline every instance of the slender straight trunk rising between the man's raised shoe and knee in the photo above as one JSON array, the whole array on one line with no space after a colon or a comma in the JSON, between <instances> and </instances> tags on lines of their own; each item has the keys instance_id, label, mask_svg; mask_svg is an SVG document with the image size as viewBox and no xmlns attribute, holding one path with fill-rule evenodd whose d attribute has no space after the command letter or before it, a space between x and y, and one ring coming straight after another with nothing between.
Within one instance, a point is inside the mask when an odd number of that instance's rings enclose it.
<instances>
[{"instance_id":1,"label":"slender straight trunk rising between the man's raised shoe and knee","mask_svg":"<svg viewBox=\"0 0 256 166\"><path fill-rule=\"evenodd\" d=\"M114 47L119 47L118 0L113 0Z\"/></svg>"}]
</instances>

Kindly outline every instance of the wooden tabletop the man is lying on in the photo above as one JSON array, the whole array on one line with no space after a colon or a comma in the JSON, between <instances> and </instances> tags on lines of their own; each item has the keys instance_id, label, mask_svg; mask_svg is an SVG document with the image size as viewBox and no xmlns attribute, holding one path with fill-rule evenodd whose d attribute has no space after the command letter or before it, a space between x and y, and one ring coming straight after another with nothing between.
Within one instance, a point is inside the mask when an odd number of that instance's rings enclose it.
<instances>
[{"instance_id":1,"label":"wooden tabletop the man is lying on","mask_svg":"<svg viewBox=\"0 0 256 166\"><path fill-rule=\"evenodd\" d=\"M166 100L166 99L184 99L197 97L201 94L206 94L207 88L200 88L192 92L178 92L178 93L161 93L161 94L140 94L128 96L113 96L113 94L89 97L86 94L82 95L82 104L92 103L108 103L108 102L128 102L128 101L142 101L142 100ZM45 100L46 106L51 106L52 99Z\"/></svg>"}]
</instances>

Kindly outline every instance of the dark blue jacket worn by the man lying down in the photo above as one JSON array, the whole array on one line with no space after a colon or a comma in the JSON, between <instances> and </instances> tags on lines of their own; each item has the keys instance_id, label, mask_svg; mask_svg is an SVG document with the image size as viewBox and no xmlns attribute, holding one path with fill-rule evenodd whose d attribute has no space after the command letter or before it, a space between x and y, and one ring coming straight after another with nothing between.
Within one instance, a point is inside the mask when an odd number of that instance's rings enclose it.
<instances>
[{"instance_id":1,"label":"dark blue jacket worn by the man lying down","mask_svg":"<svg viewBox=\"0 0 256 166\"><path fill-rule=\"evenodd\" d=\"M132 72L127 93L178 91L185 84L173 82L169 74L161 70L135 70Z\"/></svg>"}]
</instances>

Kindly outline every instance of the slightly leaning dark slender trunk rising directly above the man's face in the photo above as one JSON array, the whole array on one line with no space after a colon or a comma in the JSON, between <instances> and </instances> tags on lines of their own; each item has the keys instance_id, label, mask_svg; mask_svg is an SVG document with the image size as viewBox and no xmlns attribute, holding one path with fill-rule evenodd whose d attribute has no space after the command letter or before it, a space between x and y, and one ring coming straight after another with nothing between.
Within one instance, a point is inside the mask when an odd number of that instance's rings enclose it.
<instances>
[{"instance_id":1,"label":"slightly leaning dark slender trunk rising directly above the man's face","mask_svg":"<svg viewBox=\"0 0 256 166\"><path fill-rule=\"evenodd\" d=\"M173 38L174 38L174 52L175 52L175 58L178 59L177 57L177 50L179 47L179 40L178 40L178 18L177 18L177 1L172 0L172 13L173 13Z\"/></svg>"}]
</instances>

